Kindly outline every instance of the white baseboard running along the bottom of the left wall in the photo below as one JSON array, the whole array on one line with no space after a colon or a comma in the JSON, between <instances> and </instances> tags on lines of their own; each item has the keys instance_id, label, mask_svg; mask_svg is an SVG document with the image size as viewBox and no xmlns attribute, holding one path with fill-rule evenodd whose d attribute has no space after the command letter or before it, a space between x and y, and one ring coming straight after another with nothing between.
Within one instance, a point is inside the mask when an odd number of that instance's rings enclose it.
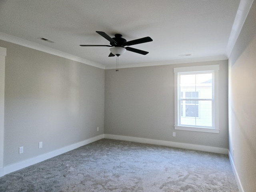
<instances>
[{"instance_id":1,"label":"white baseboard running along the bottom of the left wall","mask_svg":"<svg viewBox=\"0 0 256 192\"><path fill-rule=\"evenodd\" d=\"M0 168L0 177L6 175L8 173L20 170L22 168L28 167L30 165L42 162L42 161L47 160L49 158L52 158L52 157L58 156L60 154L66 153L70 150L74 150L78 147L84 146L86 144L92 143L94 141L97 141L97 140L100 140L100 139L103 139L103 138L104 138L104 134L98 135L98 136L95 136L93 138L89 138L89 139L86 139L84 141L81 141L81 142L78 142L78 143L60 148L58 150L55 150L55 151L52 151L52 152L49 152L49 153L31 158L31 159L28 159L28 160L24 160L22 162L18 162L18 163Z\"/></svg>"}]
</instances>

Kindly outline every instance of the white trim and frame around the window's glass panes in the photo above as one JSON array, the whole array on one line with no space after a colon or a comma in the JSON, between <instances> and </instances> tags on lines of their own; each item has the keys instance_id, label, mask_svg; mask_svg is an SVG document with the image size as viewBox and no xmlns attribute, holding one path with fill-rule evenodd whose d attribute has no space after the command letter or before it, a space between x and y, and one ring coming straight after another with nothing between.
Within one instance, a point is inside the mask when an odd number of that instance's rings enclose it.
<instances>
[{"instance_id":1,"label":"white trim and frame around the window's glass panes","mask_svg":"<svg viewBox=\"0 0 256 192\"><path fill-rule=\"evenodd\" d=\"M175 130L198 131L219 133L219 75L218 71L220 65L204 65L204 66L189 66L189 67L176 67L174 68L174 116L175 116ZM182 126L179 119L179 76L180 74L193 74L193 73L207 73L212 72L212 127L199 127L199 126Z\"/></svg>"}]
</instances>

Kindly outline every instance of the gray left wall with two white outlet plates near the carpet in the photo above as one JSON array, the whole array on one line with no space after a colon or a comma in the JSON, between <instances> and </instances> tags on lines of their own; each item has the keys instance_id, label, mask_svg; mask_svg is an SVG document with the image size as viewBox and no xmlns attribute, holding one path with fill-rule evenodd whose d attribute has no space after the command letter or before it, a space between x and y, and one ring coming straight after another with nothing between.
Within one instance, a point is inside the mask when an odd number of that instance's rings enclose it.
<instances>
[{"instance_id":1,"label":"gray left wall with two white outlet plates near the carpet","mask_svg":"<svg viewBox=\"0 0 256 192\"><path fill-rule=\"evenodd\" d=\"M7 48L4 166L104 133L103 69L2 40L0 46Z\"/></svg>"}]
</instances>

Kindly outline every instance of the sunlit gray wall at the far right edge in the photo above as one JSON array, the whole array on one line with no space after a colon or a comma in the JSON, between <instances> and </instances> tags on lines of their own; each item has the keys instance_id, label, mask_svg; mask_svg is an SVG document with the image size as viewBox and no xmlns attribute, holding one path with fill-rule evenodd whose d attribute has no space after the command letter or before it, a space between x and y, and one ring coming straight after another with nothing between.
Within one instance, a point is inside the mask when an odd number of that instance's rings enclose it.
<instances>
[{"instance_id":1,"label":"sunlit gray wall at the far right edge","mask_svg":"<svg viewBox=\"0 0 256 192\"><path fill-rule=\"evenodd\" d=\"M256 191L255 82L256 1L229 59L230 152L244 192Z\"/></svg>"}]
</instances>

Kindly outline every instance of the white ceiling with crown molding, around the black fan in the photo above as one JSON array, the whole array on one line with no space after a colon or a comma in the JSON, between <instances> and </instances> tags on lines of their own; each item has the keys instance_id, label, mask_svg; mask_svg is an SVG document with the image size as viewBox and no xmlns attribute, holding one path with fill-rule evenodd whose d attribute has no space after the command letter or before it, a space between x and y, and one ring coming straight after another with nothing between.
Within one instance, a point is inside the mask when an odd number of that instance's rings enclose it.
<instances>
[{"instance_id":1,"label":"white ceiling with crown molding, around the black fan","mask_svg":"<svg viewBox=\"0 0 256 192\"><path fill-rule=\"evenodd\" d=\"M109 45L95 31L111 37L120 33L127 41L146 36L153 39L130 46L149 54L126 51L119 57L123 67L184 58L228 57L228 45L234 44L234 36L240 32L233 25L239 8L247 13L250 9L241 8L240 0L1 0L0 38L14 36L106 68L116 65L116 58L108 57L109 47L79 46ZM38 39L41 37L55 43Z\"/></svg>"}]
</instances>

